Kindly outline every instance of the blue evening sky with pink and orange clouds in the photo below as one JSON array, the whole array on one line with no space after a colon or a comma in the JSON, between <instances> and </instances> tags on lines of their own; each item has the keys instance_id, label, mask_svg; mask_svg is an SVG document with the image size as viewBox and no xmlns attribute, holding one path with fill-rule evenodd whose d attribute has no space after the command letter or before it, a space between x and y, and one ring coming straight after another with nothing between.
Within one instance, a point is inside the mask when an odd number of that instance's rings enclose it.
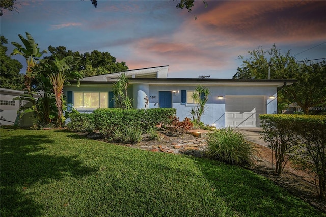
<instances>
[{"instance_id":1,"label":"blue evening sky with pink and orange clouds","mask_svg":"<svg viewBox=\"0 0 326 217\"><path fill-rule=\"evenodd\" d=\"M41 50L110 52L129 69L169 65L169 78L232 78L239 55L274 43L297 61L326 58L326 1L208 1L205 8L199 0L192 13L169 0L99 1L97 8L88 0L17 1L19 13L0 17L9 43L29 32Z\"/></svg>"}]
</instances>

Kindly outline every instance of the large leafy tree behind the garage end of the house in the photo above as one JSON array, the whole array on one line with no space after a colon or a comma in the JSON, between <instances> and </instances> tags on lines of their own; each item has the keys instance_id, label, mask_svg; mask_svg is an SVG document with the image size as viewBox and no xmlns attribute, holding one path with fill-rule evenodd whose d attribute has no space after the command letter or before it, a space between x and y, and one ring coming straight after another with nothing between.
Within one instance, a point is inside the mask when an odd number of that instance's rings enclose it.
<instances>
[{"instance_id":1,"label":"large leafy tree behind the garage end of the house","mask_svg":"<svg viewBox=\"0 0 326 217\"><path fill-rule=\"evenodd\" d=\"M311 108L325 106L326 102L326 61L296 61L290 50L282 54L275 44L270 50L262 47L248 52L250 57L243 60L233 79L296 79L293 85L278 92L279 108L297 103L308 114Z\"/></svg>"}]
</instances>

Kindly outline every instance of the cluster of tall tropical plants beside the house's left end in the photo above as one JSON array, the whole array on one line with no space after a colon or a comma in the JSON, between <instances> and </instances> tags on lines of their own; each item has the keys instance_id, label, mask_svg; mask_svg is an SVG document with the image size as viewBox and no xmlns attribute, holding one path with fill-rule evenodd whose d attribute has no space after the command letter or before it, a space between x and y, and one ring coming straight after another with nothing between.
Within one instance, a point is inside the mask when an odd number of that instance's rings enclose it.
<instances>
[{"instance_id":1,"label":"cluster of tall tropical plants beside the house's left end","mask_svg":"<svg viewBox=\"0 0 326 217\"><path fill-rule=\"evenodd\" d=\"M63 111L66 110L66 101L63 96L63 86L69 85L69 79L82 78L78 72L72 71L72 67L78 63L78 59L73 56L67 56L54 61L41 60L40 57L46 50L40 52L40 48L35 43L33 37L26 32L26 38L19 35L24 46L17 42L12 42L16 47L12 55L22 55L28 67L25 75L25 86L28 90L27 94L16 97L15 100L28 100L32 102L30 107L21 107L18 113L22 115L33 112L37 117L37 123L48 124L54 122L58 127L61 127L65 117ZM67 79L67 80L66 80ZM38 90L35 90L33 81L39 84ZM39 90L43 92L40 94ZM38 100L34 97L38 95ZM67 113L69 114L69 112Z\"/></svg>"}]
</instances>

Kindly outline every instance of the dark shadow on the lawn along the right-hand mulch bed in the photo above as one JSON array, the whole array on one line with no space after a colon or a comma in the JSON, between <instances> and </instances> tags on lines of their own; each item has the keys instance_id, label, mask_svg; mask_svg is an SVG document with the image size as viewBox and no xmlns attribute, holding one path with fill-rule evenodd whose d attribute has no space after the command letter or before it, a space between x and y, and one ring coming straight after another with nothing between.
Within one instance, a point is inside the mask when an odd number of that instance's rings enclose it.
<instances>
[{"instance_id":1,"label":"dark shadow on the lawn along the right-hand mulch bed","mask_svg":"<svg viewBox=\"0 0 326 217\"><path fill-rule=\"evenodd\" d=\"M312 214L313 208L309 204L252 171L203 158L194 158L194 161L213 183L217 194L244 216Z\"/></svg>"}]
</instances>

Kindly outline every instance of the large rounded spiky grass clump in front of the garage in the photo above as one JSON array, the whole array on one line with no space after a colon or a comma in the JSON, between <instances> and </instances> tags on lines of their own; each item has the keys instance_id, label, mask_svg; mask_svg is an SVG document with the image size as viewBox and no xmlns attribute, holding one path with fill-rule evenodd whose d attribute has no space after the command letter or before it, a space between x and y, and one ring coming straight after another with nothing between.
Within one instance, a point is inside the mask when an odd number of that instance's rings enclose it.
<instances>
[{"instance_id":1,"label":"large rounded spiky grass clump in front of the garage","mask_svg":"<svg viewBox=\"0 0 326 217\"><path fill-rule=\"evenodd\" d=\"M205 153L209 158L236 165L252 165L255 161L254 146L230 127L208 133L206 142Z\"/></svg>"}]
</instances>

